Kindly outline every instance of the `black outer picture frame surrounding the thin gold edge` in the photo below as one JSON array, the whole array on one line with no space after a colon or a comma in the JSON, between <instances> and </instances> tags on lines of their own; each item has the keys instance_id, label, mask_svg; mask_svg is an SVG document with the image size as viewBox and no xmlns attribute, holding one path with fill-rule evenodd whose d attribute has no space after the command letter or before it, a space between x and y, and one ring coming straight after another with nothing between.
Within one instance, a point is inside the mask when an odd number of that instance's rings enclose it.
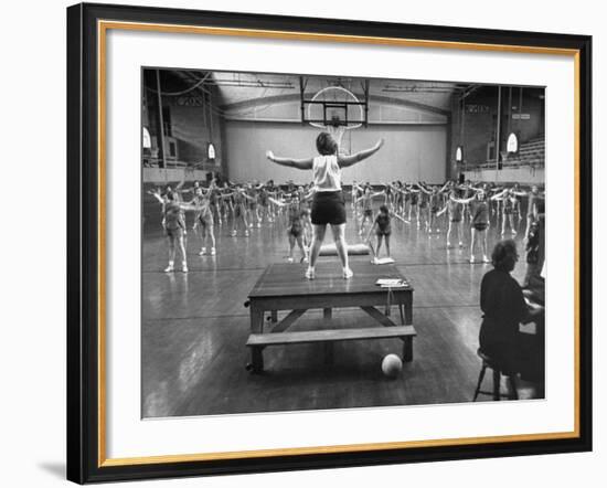
<instances>
[{"instance_id":1,"label":"black outer picture frame surrounding the thin gold edge","mask_svg":"<svg viewBox=\"0 0 607 488\"><path fill-rule=\"evenodd\" d=\"M99 428L99 20L574 50L578 56L578 436L524 442L105 465ZM592 38L81 3L67 9L67 479L116 481L592 450ZM103 399L102 399L103 400Z\"/></svg>"}]
</instances>

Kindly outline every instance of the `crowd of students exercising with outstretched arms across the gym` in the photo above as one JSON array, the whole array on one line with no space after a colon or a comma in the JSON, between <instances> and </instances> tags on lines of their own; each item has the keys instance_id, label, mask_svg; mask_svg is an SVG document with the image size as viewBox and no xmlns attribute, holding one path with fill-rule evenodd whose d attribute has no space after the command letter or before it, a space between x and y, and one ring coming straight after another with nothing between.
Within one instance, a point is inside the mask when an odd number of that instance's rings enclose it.
<instances>
[{"instance_id":1,"label":"crowd of students exercising with outstretched arms across the gym","mask_svg":"<svg viewBox=\"0 0 607 488\"><path fill-rule=\"evenodd\" d=\"M480 259L487 258L487 230L491 216L501 225L501 234L507 227L517 234L517 221L522 221L521 200L526 198L526 220L524 234L528 251L537 254L539 234L543 229L544 193L537 187L529 191L519 184L498 187L496 184L472 183L467 181L457 184L447 181L445 184L426 184L424 182L403 183L395 181L380 187L369 183L356 183L351 187L351 208L356 219L359 235L364 242L376 238L375 256L379 256L382 244L385 244L387 256L391 255L391 234L393 218L409 224L416 221L417 229L428 233L441 232L440 216L446 215L447 247L451 247L451 238L459 247L464 245L464 225L468 221L471 230L470 262L476 262L475 251L480 247ZM310 202L313 195L313 184L296 187L292 183L231 184L219 185L212 180L206 187L194 182L184 188L179 183L174 189L156 189L150 194L162 204L162 224L168 236L170 263L167 272L174 270L175 252L182 255L182 265L187 270L185 212L193 213L191 230L201 238L200 255L215 255L215 226L225 222L230 225L233 236L242 232L248 236L252 227L260 227L263 222L283 222L287 226L289 241L288 261L294 262L294 250L298 246L300 262L308 262L312 236L310 219ZM376 202L380 203L375 213ZM531 238L530 238L531 237ZM542 238L543 242L543 238ZM543 246L542 246L543 247ZM543 254L543 252L542 252Z\"/></svg>"}]
</instances>

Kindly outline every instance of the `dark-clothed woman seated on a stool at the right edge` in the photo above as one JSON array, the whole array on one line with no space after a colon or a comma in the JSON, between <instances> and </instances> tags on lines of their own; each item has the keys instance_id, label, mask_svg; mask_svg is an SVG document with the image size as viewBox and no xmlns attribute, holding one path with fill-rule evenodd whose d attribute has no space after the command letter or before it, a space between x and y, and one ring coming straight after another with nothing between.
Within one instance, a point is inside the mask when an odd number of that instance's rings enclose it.
<instances>
[{"instance_id":1,"label":"dark-clothed woman seated on a stool at the right edge","mask_svg":"<svg viewBox=\"0 0 607 488\"><path fill-rule=\"evenodd\" d=\"M521 371L519 325L531 322L543 312L542 307L525 301L521 286L510 275L518 259L514 241L498 242L491 254L493 269L480 285L480 349L507 376Z\"/></svg>"}]
</instances>

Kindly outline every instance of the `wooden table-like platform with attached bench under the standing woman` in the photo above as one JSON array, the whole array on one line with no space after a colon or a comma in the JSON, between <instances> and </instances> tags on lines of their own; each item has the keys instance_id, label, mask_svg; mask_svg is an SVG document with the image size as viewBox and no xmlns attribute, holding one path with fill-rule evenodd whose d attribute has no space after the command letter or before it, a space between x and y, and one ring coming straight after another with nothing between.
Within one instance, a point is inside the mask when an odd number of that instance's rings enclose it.
<instances>
[{"instance_id":1,"label":"wooden table-like platform with attached bench under the standing woman","mask_svg":"<svg viewBox=\"0 0 607 488\"><path fill-rule=\"evenodd\" d=\"M377 286L380 278L406 278L394 265L376 266L369 262L353 262L351 279L341 277L341 269L334 262L317 265L317 277L313 280L303 276L305 267L294 264L269 265L248 295L251 307L251 336L247 347L251 348L248 368L254 372L264 369L263 350L267 346L326 342L345 340L372 340L397 338L403 340L403 359L413 360L413 338L415 328L411 326L413 315L413 287L392 289ZM384 312L375 308L384 306ZM390 318L393 306L398 308L401 322L398 327ZM333 329L332 309L360 307L383 328ZM322 330L285 332L307 310L323 309ZM290 310L278 321L279 310ZM270 327L264 331L264 314L270 312ZM327 348L332 356L332 349Z\"/></svg>"}]
</instances>

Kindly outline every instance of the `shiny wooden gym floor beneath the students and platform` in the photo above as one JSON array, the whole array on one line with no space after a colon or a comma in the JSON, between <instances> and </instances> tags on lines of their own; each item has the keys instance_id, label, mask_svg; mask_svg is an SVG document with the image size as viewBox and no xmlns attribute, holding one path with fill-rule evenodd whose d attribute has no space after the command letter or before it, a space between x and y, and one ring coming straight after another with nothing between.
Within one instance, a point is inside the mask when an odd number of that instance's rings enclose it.
<instances>
[{"instance_id":1,"label":"shiny wooden gym floor beneath the students and platform","mask_svg":"<svg viewBox=\"0 0 607 488\"><path fill-rule=\"evenodd\" d=\"M268 264L286 262L285 223L264 222L262 229L251 230L249 237L242 236L242 232L231 237L225 222L223 226L215 224L216 256L198 256L200 241L190 232L190 272L166 274L160 205L145 200L142 417L471 401L480 370L476 352L481 319L480 280L491 265L467 261L467 222L464 248L447 250L444 216L439 220L439 234L417 230L414 219L411 225L392 221L392 256L415 288L413 323L417 330L414 360L404 363L398 379L390 380L381 371L385 354L402 351L402 342L394 339L338 342L332 365L324 363L320 343L273 347L264 352L265 372L251 374L245 369L251 356L245 347L249 316L244 303ZM351 212L348 222L348 242L360 242ZM191 223L189 214L189 227ZM522 257L513 272L519 283L525 266L521 243L524 225L523 219L517 237ZM505 236L510 234L507 232ZM489 252L499 237L493 216ZM332 242L329 232L326 240ZM299 257L297 248L295 255ZM323 262L337 257L320 259L318 266L322 267ZM175 265L179 269L179 258ZM300 268L305 279L305 265L292 266ZM397 314L396 309L393 314ZM366 319L360 309L333 310L337 327L355 327ZM321 321L322 310L310 310L289 330L315 328ZM487 374L486 390L490 390L490 376ZM519 394L522 399L533 397L533 385L523 384ZM491 399L479 397L487 400Z\"/></svg>"}]
</instances>

